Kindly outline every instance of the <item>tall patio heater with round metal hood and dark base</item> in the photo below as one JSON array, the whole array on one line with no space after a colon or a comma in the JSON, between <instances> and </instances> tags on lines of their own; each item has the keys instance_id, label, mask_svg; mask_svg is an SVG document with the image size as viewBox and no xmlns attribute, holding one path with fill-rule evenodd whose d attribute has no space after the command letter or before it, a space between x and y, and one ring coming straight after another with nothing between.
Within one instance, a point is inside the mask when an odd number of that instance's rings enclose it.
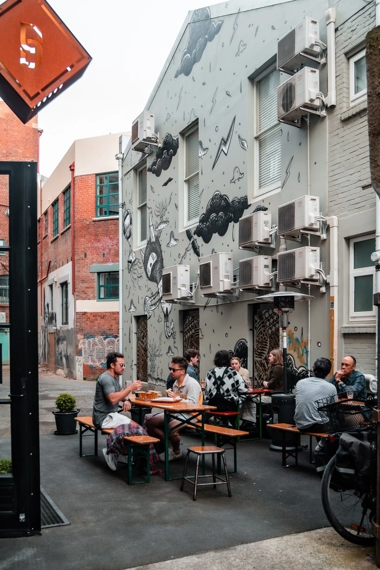
<instances>
[{"instance_id":1,"label":"tall patio heater with round metal hood and dark base","mask_svg":"<svg viewBox=\"0 0 380 570\"><path fill-rule=\"evenodd\" d=\"M314 299L311 295L302 295L292 291L278 291L269 295L256 297L256 300L273 303L273 311L280 315L280 325L282 328L282 354L284 357L284 388L282 394L272 394L272 414L273 423L282 424L288 422L294 423L294 413L296 412L296 396L288 393L288 372L286 370L286 346L287 333L289 326L289 313L294 311L294 303L296 301L309 301ZM286 450L291 451L300 446L300 437L286 434ZM273 436L272 444L269 446L271 451L282 451L282 441L278 436Z\"/></svg>"}]
</instances>

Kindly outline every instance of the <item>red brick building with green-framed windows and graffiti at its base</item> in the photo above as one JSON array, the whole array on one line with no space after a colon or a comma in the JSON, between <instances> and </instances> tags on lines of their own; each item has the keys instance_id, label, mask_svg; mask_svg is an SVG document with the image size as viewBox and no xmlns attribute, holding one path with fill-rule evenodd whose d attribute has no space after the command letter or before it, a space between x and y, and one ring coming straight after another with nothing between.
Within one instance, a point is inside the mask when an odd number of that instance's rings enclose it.
<instances>
[{"instance_id":1,"label":"red brick building with green-framed windows and graffiti at its base","mask_svg":"<svg viewBox=\"0 0 380 570\"><path fill-rule=\"evenodd\" d=\"M119 137L74 141L40 191L39 361L70 377L119 348Z\"/></svg>"}]
</instances>

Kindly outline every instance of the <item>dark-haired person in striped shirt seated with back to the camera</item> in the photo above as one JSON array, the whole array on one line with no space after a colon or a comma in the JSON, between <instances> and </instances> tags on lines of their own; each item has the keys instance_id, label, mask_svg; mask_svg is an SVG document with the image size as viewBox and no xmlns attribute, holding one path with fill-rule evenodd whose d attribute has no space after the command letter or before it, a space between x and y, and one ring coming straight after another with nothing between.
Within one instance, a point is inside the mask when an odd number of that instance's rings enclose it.
<instances>
[{"instance_id":1,"label":"dark-haired person in striped shirt seated with back to the camera","mask_svg":"<svg viewBox=\"0 0 380 570\"><path fill-rule=\"evenodd\" d=\"M317 400L331 398L337 401L337 389L324 378L332 364L327 358L318 358L313 365L314 376L299 380L296 384L296 413L294 422L300 431L324 431L324 422L318 412Z\"/></svg>"}]
</instances>

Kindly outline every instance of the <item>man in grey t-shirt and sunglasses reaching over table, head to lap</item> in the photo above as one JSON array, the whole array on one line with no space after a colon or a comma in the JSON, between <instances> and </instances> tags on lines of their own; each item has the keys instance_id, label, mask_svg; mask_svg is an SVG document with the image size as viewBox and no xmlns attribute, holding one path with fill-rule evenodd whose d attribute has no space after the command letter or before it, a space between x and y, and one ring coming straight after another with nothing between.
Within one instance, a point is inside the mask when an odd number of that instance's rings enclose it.
<instances>
[{"instance_id":1,"label":"man in grey t-shirt and sunglasses reaching over table, head to lap","mask_svg":"<svg viewBox=\"0 0 380 570\"><path fill-rule=\"evenodd\" d=\"M129 424L127 416L118 413L119 402L123 402L123 412L131 409L128 395L132 390L140 390L142 382L136 380L128 388L120 389L119 376L124 372L126 364L120 352L110 352L107 356L107 372L100 374L96 381L94 409L92 421L97 429L117 427Z\"/></svg>"}]
</instances>

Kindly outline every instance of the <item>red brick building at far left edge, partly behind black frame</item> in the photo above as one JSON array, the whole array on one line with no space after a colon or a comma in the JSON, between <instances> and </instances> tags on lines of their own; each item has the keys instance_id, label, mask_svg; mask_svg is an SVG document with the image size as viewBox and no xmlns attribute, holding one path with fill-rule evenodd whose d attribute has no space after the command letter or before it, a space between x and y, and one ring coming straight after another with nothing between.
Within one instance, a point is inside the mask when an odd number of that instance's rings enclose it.
<instances>
[{"instance_id":1,"label":"red brick building at far left edge, partly behind black frame","mask_svg":"<svg viewBox=\"0 0 380 570\"><path fill-rule=\"evenodd\" d=\"M38 120L33 117L25 125L0 101L0 160L38 160ZM9 246L9 180L0 175L0 247ZM1 323L9 323L9 254L0 250L0 343L3 364L9 363L9 329Z\"/></svg>"}]
</instances>

